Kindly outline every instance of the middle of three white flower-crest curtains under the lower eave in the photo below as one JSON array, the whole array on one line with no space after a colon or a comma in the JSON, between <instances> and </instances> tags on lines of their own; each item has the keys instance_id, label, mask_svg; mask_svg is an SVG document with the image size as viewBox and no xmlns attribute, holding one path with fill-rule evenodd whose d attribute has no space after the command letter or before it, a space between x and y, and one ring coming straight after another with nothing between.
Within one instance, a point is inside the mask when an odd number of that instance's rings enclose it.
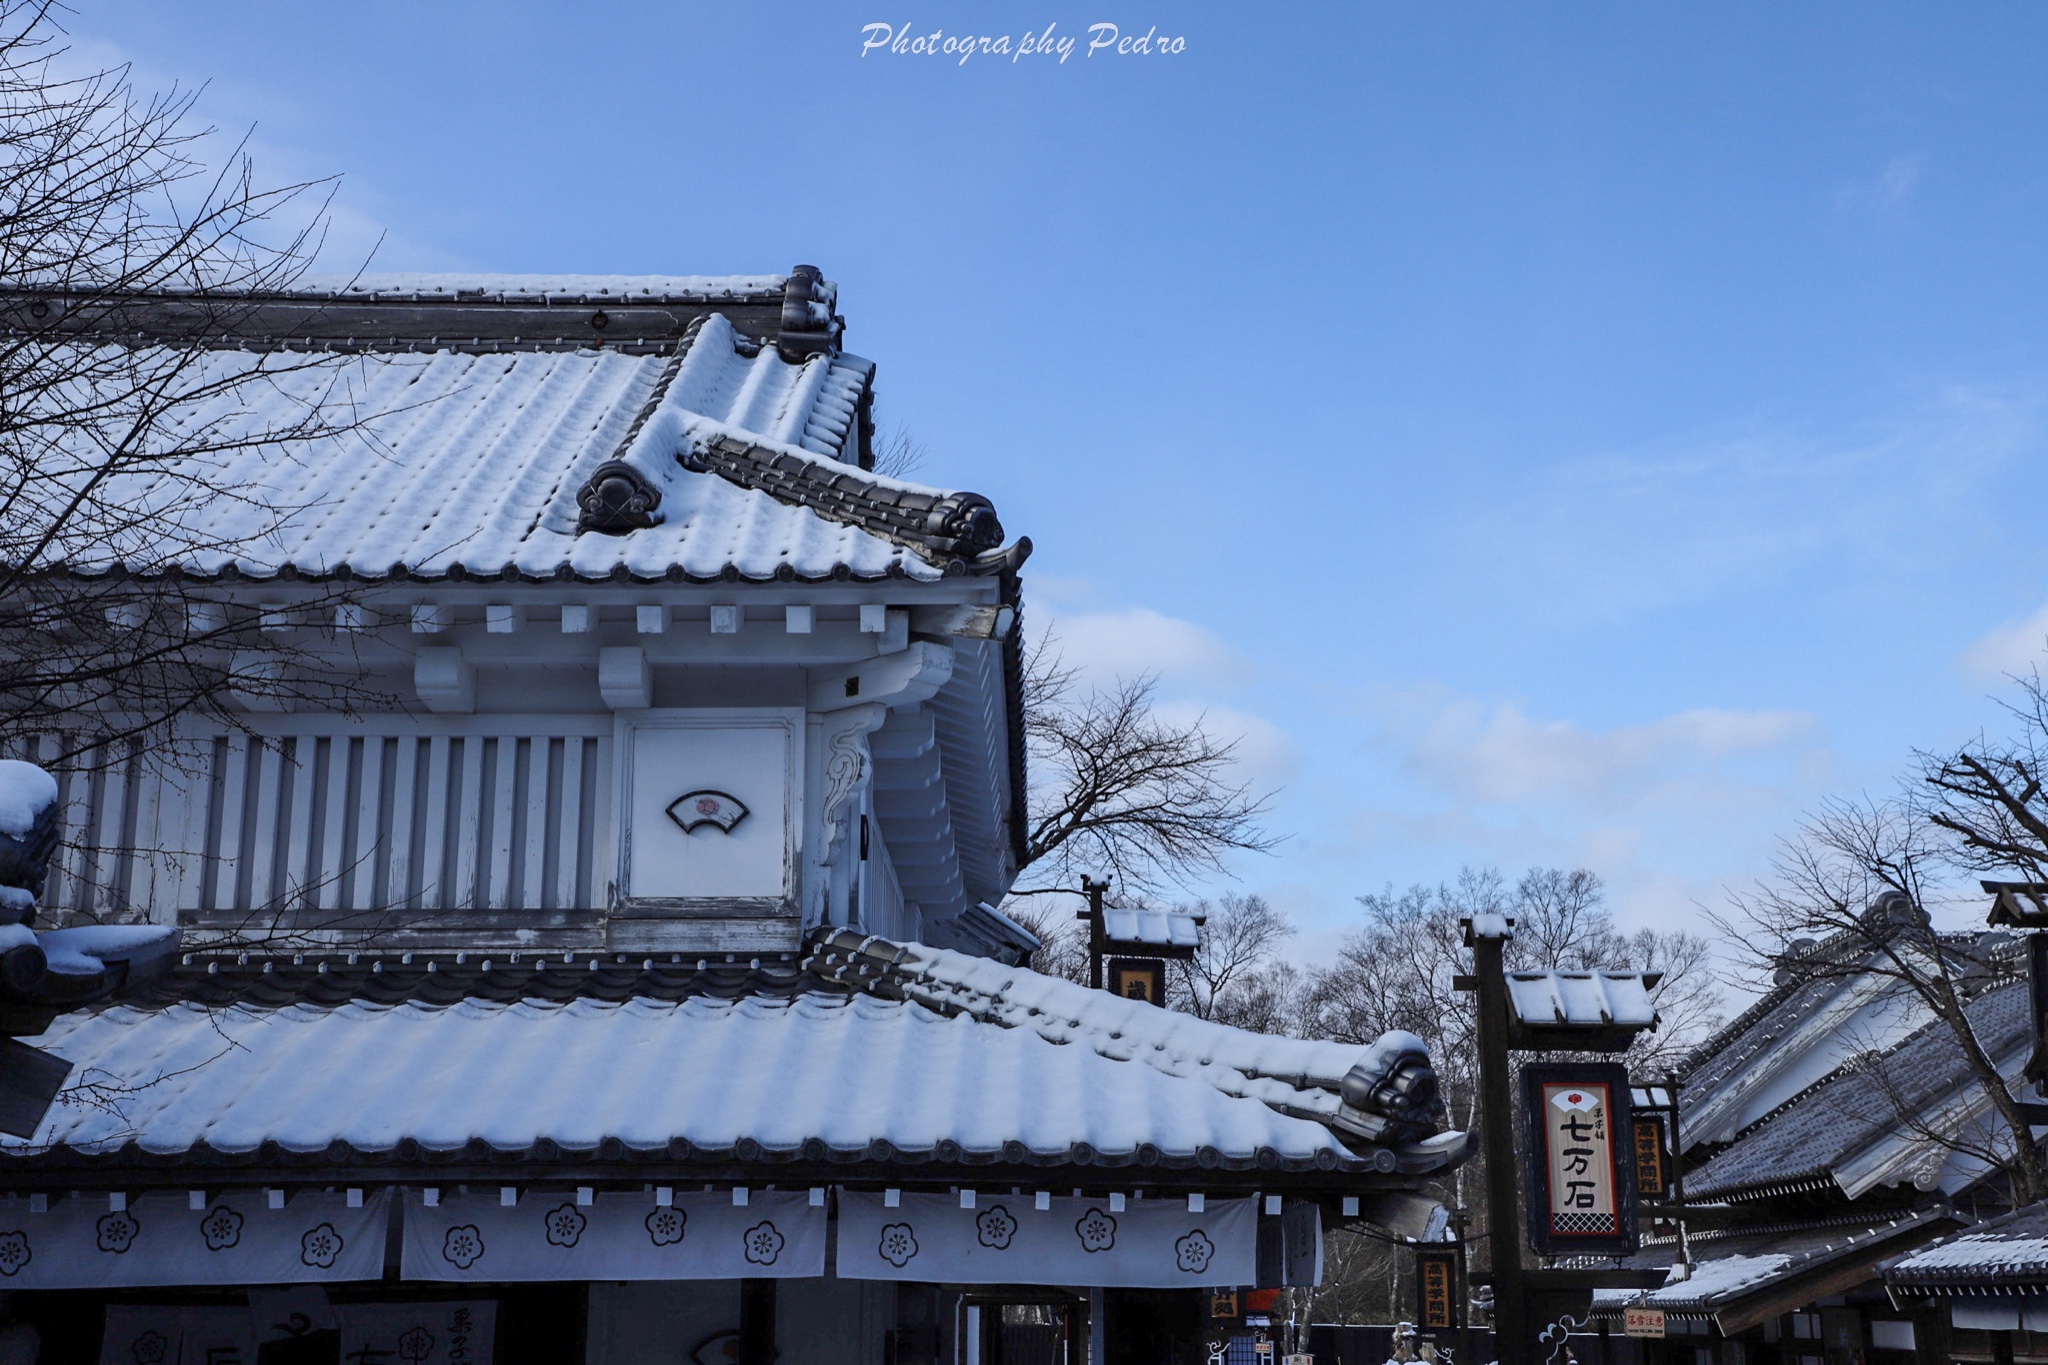
<instances>
[{"instance_id":1,"label":"middle of three white flower-crest curtains under the lower eave","mask_svg":"<svg viewBox=\"0 0 2048 1365\"><path fill-rule=\"evenodd\" d=\"M406 1195L406 1279L799 1279L825 1273L825 1209L807 1191L655 1193L498 1189Z\"/></svg>"}]
</instances>

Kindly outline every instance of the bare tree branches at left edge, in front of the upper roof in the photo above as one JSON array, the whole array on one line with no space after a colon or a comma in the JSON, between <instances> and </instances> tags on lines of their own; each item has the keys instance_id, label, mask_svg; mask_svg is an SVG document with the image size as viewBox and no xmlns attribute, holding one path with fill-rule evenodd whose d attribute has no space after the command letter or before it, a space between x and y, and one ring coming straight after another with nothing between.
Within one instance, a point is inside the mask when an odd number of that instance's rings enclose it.
<instances>
[{"instance_id":1,"label":"bare tree branches at left edge, in front of the upper roof","mask_svg":"<svg viewBox=\"0 0 2048 1365\"><path fill-rule=\"evenodd\" d=\"M360 692L287 663L190 569L274 546L303 512L240 456L293 458L362 413L344 360L221 344L252 293L305 270L328 184L260 186L240 147L209 168L193 92L76 72L53 8L0 2L0 735L78 767L186 714L233 720L238 698ZM137 295L174 295L176 327L109 342Z\"/></svg>"}]
</instances>

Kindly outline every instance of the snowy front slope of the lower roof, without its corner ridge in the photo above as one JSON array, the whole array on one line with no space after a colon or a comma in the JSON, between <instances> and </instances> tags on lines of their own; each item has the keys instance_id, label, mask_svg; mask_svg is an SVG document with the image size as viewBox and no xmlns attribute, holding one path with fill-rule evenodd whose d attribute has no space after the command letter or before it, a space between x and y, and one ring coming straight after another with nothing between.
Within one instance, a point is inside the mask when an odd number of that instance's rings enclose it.
<instances>
[{"instance_id":1,"label":"snowy front slope of the lower roof, without its corner ridge","mask_svg":"<svg viewBox=\"0 0 2048 1365\"><path fill-rule=\"evenodd\" d=\"M1350 1164L1327 1128L1157 1068L827 993L739 1001L463 1001L449 1007L137 1009L41 1040L80 1076L133 1087L59 1101L25 1152L594 1152L768 1160L928 1154L1071 1162ZM1321 1158L1321 1162L1319 1162ZM1081 1156L1087 1160L1087 1156Z\"/></svg>"}]
</instances>

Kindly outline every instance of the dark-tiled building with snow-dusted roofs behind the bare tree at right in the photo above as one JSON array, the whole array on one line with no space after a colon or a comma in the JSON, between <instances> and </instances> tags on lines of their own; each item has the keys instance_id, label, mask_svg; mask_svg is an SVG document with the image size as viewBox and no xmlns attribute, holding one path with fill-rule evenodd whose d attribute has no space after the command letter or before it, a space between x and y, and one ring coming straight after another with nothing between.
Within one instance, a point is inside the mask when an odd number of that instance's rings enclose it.
<instances>
[{"instance_id":1,"label":"dark-tiled building with snow-dusted roofs behind the bare tree at right","mask_svg":"<svg viewBox=\"0 0 2048 1365\"><path fill-rule=\"evenodd\" d=\"M1868 917L1919 935L1898 952L1950 958L1970 1027L2017 1093L2038 1036L2011 935L1933 935L1903 896ZM1692 1273L1595 1300L1610 1320L1630 1304L1663 1310L1667 1338L1645 1342L1647 1359L1952 1359L1946 1316L1888 1293L1884 1267L2009 1207L1997 1115L1950 1025L1894 974L1855 970L1878 952L1868 933L1800 945L1681 1072ZM1632 1263L1677 1257L1663 1224Z\"/></svg>"}]
</instances>

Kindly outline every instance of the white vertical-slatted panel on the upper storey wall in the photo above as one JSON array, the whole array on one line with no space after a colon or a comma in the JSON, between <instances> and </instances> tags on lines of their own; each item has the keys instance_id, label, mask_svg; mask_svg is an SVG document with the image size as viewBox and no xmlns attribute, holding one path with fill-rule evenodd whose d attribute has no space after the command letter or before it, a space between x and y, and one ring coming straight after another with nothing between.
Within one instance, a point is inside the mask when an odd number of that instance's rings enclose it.
<instances>
[{"instance_id":1,"label":"white vertical-slatted panel on the upper storey wall","mask_svg":"<svg viewBox=\"0 0 2048 1365\"><path fill-rule=\"evenodd\" d=\"M377 733L279 716L260 737L199 737L180 765L193 772L135 745L63 763L57 737L14 737L0 753L57 778L51 919L600 909L610 720L463 720L500 724Z\"/></svg>"}]
</instances>

